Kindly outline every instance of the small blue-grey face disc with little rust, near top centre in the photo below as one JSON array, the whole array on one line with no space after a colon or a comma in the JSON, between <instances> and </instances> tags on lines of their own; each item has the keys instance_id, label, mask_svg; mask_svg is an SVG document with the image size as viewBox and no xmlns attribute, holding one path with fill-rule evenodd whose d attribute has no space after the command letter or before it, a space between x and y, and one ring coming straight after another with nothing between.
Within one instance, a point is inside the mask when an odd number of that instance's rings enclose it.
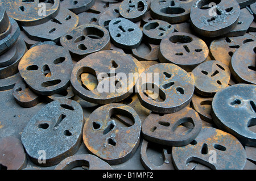
<instances>
[{"instance_id":1,"label":"small blue-grey face disc with little rust, near top centre","mask_svg":"<svg viewBox=\"0 0 256 181\"><path fill-rule=\"evenodd\" d=\"M112 43L123 49L134 49L141 44L143 33L137 24L125 18L115 18L109 23Z\"/></svg>"}]
</instances>

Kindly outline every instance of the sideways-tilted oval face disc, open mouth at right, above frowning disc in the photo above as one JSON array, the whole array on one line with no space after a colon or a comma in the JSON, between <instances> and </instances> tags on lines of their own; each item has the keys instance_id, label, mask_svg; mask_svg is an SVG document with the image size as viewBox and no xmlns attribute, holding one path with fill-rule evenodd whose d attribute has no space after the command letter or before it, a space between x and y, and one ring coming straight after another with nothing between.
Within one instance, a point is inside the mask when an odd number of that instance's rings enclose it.
<instances>
[{"instance_id":1,"label":"sideways-tilted oval face disc, open mouth at right, above frowning disc","mask_svg":"<svg viewBox=\"0 0 256 181\"><path fill-rule=\"evenodd\" d=\"M187 124L187 125L186 125ZM179 126L187 127L179 131ZM192 108L159 115L151 113L142 124L143 137L157 144L167 146L184 146L193 141L202 128L202 121L198 113Z\"/></svg>"}]
</instances>

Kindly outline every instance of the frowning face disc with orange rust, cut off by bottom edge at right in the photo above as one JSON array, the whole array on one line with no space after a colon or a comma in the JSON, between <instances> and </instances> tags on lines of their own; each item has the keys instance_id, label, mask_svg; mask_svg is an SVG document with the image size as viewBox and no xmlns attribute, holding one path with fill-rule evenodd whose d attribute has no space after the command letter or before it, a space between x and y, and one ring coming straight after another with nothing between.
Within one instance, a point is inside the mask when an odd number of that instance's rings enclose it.
<instances>
[{"instance_id":1,"label":"frowning face disc with orange rust, cut off by bottom edge at right","mask_svg":"<svg viewBox=\"0 0 256 181\"><path fill-rule=\"evenodd\" d=\"M232 134L203 127L190 144L172 148L172 160L179 170L197 170L200 166L213 170L242 170L246 154Z\"/></svg>"}]
</instances>

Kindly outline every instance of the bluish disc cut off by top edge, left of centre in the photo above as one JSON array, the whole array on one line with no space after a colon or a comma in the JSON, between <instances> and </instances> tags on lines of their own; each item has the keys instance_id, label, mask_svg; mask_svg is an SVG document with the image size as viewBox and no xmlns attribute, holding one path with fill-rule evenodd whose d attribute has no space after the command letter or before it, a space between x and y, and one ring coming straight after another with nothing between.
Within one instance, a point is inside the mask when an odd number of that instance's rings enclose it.
<instances>
[{"instance_id":1,"label":"bluish disc cut off by top edge, left of centre","mask_svg":"<svg viewBox=\"0 0 256 181\"><path fill-rule=\"evenodd\" d=\"M81 12L89 10L95 3L96 0L60 0L60 7L65 7L72 12L79 14Z\"/></svg>"}]
</instances>

